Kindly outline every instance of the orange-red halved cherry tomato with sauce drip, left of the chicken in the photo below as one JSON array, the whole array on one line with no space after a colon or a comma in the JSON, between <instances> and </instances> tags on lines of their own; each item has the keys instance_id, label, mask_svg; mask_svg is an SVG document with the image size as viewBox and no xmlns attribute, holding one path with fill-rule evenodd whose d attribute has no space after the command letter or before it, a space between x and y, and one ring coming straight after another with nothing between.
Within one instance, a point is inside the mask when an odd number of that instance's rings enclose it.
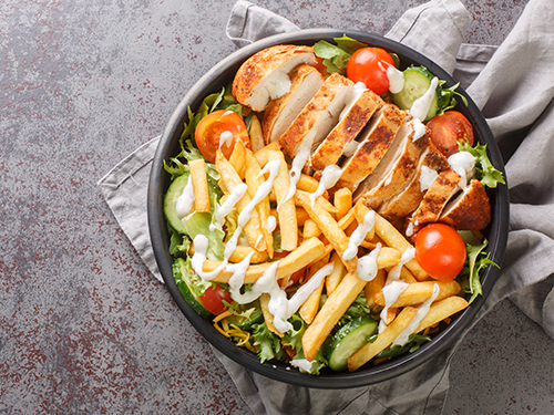
<instances>
[{"instance_id":1,"label":"orange-red halved cherry tomato with sauce drip, left of the chicken","mask_svg":"<svg viewBox=\"0 0 554 415\"><path fill-rule=\"evenodd\" d=\"M229 158L237 139L242 139L246 148L250 148L243 117L228 110L214 111L202 118L196 126L194 139L202 155L212 163L215 163L215 154L219 147L224 156Z\"/></svg>"}]
</instances>

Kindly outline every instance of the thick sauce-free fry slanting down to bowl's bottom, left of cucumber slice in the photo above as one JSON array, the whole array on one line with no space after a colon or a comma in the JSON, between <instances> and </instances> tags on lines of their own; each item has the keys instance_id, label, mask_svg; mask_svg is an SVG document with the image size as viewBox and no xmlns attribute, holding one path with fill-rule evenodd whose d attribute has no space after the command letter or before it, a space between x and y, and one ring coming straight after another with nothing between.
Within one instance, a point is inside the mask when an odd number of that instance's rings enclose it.
<instances>
[{"instance_id":1,"label":"thick sauce-free fry slanting down to bowl's bottom, left of cucumber slice","mask_svg":"<svg viewBox=\"0 0 554 415\"><path fill-rule=\"evenodd\" d=\"M306 359L312 361L325 339L332 331L353 300L366 286L355 272L345 276L337 289L329 295L302 336L302 350Z\"/></svg>"}]
</instances>

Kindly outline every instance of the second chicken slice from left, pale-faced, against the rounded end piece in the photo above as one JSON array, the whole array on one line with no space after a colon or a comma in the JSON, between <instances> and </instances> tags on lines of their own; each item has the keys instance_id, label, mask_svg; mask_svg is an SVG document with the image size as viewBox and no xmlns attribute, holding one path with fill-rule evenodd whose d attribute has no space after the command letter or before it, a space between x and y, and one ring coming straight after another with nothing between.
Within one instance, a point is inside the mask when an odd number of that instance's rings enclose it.
<instances>
[{"instance_id":1,"label":"second chicken slice from left, pale-faced, against the rounded end piece","mask_svg":"<svg viewBox=\"0 0 554 415\"><path fill-rule=\"evenodd\" d=\"M270 101L264 113L261 129L266 144L279 139L324 84L319 71L306 64L296 66L289 76L290 91Z\"/></svg>"}]
</instances>

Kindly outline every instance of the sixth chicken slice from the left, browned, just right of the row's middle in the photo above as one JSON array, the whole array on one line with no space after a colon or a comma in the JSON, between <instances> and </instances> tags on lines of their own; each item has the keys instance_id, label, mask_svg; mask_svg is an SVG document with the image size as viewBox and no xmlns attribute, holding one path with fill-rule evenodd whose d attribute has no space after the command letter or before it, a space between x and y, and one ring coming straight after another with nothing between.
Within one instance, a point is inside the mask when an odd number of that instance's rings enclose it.
<instances>
[{"instance_id":1,"label":"sixth chicken slice from the left, browned, just right of the row's middle","mask_svg":"<svg viewBox=\"0 0 554 415\"><path fill-rule=\"evenodd\" d=\"M410 124L400 127L396 142L399 143L392 152L389 149L382 162L360 183L353 194L353 199L366 199L366 206L377 209L383 200L390 199L413 176L421 153L420 146L412 141L413 128Z\"/></svg>"}]
</instances>

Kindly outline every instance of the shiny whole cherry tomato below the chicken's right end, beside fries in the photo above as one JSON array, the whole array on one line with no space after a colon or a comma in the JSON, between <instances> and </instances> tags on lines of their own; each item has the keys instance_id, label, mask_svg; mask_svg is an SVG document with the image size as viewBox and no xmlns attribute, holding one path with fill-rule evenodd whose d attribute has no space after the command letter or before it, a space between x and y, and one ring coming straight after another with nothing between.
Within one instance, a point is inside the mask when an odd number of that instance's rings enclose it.
<instances>
[{"instance_id":1,"label":"shiny whole cherry tomato below the chicken's right end, beside fries","mask_svg":"<svg viewBox=\"0 0 554 415\"><path fill-rule=\"evenodd\" d=\"M428 225L416 236L416 260L437 280L453 280L462 270L465 256L462 237L448 225Z\"/></svg>"}]
</instances>

